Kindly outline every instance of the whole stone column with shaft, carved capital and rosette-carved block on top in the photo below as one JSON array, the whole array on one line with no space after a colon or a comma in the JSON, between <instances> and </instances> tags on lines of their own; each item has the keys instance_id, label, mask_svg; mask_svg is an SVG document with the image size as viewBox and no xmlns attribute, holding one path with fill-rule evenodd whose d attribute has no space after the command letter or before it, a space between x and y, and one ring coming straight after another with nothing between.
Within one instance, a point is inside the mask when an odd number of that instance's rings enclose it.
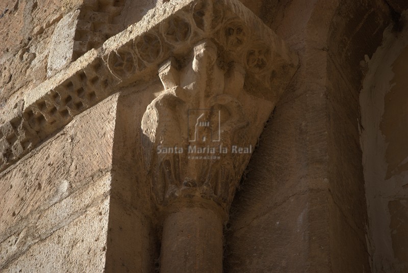
<instances>
[{"instance_id":1,"label":"whole stone column with shaft, carved capital and rosette-carved block on top","mask_svg":"<svg viewBox=\"0 0 408 273\"><path fill-rule=\"evenodd\" d=\"M296 56L237 1L192 1L133 46L136 53L116 50L108 64L122 85L157 65L163 84L141 122L163 219L160 271L221 273L228 209Z\"/></svg>"}]
</instances>

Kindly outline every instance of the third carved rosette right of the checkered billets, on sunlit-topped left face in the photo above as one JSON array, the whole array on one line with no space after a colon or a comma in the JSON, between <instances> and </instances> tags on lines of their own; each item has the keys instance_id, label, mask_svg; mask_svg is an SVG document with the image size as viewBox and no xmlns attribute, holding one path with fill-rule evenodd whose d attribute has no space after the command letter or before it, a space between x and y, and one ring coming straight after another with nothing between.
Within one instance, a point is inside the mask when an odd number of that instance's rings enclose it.
<instances>
[{"instance_id":1,"label":"third carved rosette right of the checkered billets, on sunlit-topped left face","mask_svg":"<svg viewBox=\"0 0 408 273\"><path fill-rule=\"evenodd\" d=\"M188 41L191 36L191 26L187 19L176 16L164 23L163 35L171 45L179 45L185 41Z\"/></svg>"}]
</instances>

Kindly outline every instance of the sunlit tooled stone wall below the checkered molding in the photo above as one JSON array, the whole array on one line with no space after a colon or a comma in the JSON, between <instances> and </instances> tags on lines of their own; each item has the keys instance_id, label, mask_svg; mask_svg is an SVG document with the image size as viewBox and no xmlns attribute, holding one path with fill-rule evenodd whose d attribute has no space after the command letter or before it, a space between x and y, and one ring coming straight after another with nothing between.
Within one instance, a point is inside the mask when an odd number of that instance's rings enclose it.
<instances>
[{"instance_id":1,"label":"sunlit tooled stone wall below the checkered molding","mask_svg":"<svg viewBox=\"0 0 408 273\"><path fill-rule=\"evenodd\" d=\"M2 173L0 270L104 269L116 102L84 112Z\"/></svg>"}]
</instances>

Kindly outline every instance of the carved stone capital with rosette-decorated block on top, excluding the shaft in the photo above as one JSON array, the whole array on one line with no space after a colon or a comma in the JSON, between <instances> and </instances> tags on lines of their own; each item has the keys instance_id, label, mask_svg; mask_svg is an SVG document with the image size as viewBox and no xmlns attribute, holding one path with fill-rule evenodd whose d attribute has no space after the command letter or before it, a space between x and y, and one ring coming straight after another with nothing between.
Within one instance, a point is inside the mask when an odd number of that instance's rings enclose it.
<instances>
[{"instance_id":1,"label":"carved stone capital with rosette-decorated block on top, excluding the shaft","mask_svg":"<svg viewBox=\"0 0 408 273\"><path fill-rule=\"evenodd\" d=\"M158 65L164 91L141 124L155 200L214 201L227 213L297 59L233 1L193 1L155 33L169 57Z\"/></svg>"}]
</instances>

